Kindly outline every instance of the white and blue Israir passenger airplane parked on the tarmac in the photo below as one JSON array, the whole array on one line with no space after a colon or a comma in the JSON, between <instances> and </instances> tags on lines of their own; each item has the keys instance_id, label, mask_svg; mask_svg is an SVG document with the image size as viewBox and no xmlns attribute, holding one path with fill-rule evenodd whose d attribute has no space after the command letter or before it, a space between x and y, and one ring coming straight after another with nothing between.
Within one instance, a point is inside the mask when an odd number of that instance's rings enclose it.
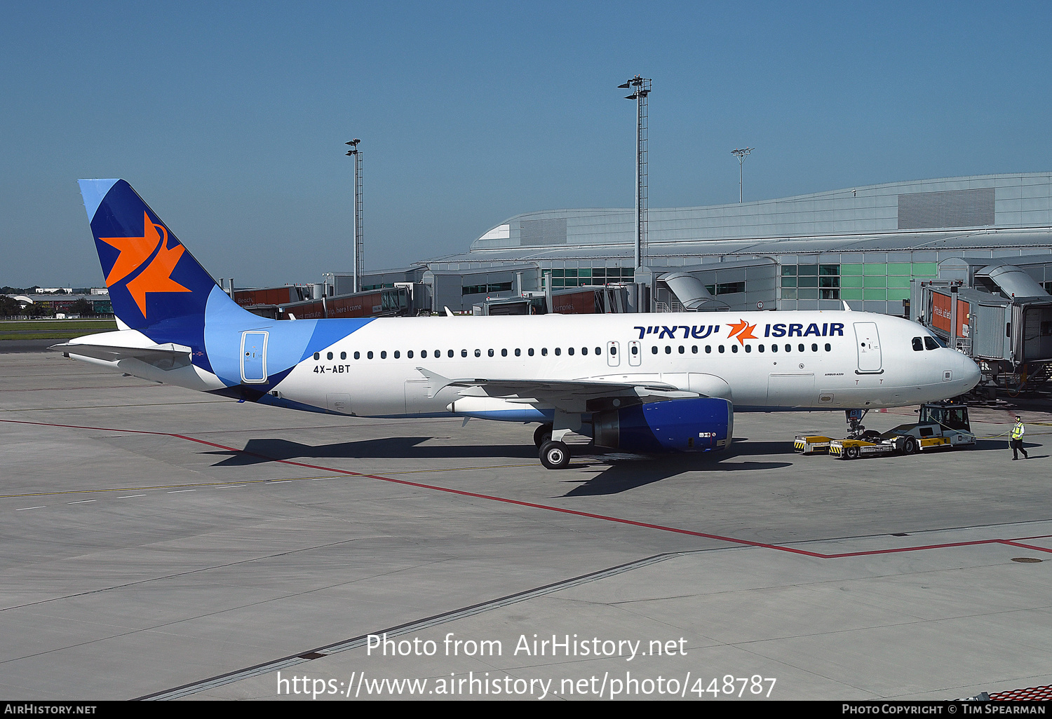
<instances>
[{"instance_id":1,"label":"white and blue Israir passenger airplane parked on the tarmac","mask_svg":"<svg viewBox=\"0 0 1052 719\"><path fill-rule=\"evenodd\" d=\"M120 329L52 349L295 410L538 424L548 469L569 465L571 437L722 452L735 412L916 405L979 379L919 325L843 310L268 320L238 306L127 182L80 187Z\"/></svg>"}]
</instances>

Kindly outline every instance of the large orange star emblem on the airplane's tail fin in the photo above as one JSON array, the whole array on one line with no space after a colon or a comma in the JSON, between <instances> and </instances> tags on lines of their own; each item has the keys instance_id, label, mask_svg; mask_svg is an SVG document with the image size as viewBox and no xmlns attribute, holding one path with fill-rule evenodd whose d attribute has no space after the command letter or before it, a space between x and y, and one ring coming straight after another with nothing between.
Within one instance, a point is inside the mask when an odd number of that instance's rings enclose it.
<instances>
[{"instance_id":1,"label":"large orange star emblem on the airplane's tail fin","mask_svg":"<svg viewBox=\"0 0 1052 719\"><path fill-rule=\"evenodd\" d=\"M145 212L142 213L141 238L99 238L102 242L121 251L117 262L109 268L109 274L106 275L107 287L112 287L114 283L120 282L130 274L157 249L154 261L127 284L128 292L144 317L146 316L146 292L191 291L171 279L171 271L176 268L176 263L179 262L185 248L182 245L177 245L168 249L167 239L168 231L164 226L155 225Z\"/></svg>"}]
</instances>

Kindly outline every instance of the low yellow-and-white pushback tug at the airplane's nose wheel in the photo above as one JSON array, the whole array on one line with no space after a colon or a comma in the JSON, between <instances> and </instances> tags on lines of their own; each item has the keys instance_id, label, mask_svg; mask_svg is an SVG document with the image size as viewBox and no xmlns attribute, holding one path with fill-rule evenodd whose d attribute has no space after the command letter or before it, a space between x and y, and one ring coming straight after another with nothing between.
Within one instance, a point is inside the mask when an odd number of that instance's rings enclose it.
<instances>
[{"instance_id":1,"label":"low yellow-and-white pushback tug at the airplane's nose wheel","mask_svg":"<svg viewBox=\"0 0 1052 719\"><path fill-rule=\"evenodd\" d=\"M920 406L918 422L899 425L879 435L867 432L858 437L833 439L829 453L841 459L856 459L873 454L914 454L942 448L972 446L975 435L968 423L968 407L951 402Z\"/></svg>"}]
</instances>

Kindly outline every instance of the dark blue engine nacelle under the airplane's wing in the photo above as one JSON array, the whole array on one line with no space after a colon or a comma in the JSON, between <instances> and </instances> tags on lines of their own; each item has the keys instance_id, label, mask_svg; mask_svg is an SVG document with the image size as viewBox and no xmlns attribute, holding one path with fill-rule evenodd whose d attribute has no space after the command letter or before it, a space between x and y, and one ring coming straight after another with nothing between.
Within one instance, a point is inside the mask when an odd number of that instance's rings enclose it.
<instances>
[{"instance_id":1,"label":"dark blue engine nacelle under the airplane's wing","mask_svg":"<svg viewBox=\"0 0 1052 719\"><path fill-rule=\"evenodd\" d=\"M722 397L669 399L592 415L595 444L628 452L720 452L730 447L734 406Z\"/></svg>"}]
</instances>

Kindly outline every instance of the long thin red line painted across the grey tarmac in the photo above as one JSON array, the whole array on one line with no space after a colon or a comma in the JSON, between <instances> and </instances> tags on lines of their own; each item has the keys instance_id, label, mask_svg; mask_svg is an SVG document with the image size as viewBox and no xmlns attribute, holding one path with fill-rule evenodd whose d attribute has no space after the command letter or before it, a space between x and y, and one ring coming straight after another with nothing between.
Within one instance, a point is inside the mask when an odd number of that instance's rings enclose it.
<instances>
[{"instance_id":1,"label":"long thin red line painted across the grey tarmac","mask_svg":"<svg viewBox=\"0 0 1052 719\"><path fill-rule=\"evenodd\" d=\"M873 554L894 554L896 552L918 552L922 550L930 549L946 549L950 547L974 547L977 545L1012 545L1014 547L1020 547L1025 549L1032 549L1038 552L1052 552L1052 549L1045 549L1040 547L1032 547L1029 545L1020 545L1016 541L1010 539L977 539L974 541L955 541L947 542L942 545L925 545L922 547L895 547L881 550L869 550L866 552L843 552L839 554L823 554L821 552L809 552L807 550L796 549L794 547L785 547L782 545L768 545L761 541L751 541L749 539L735 539L734 537L725 537L719 534L706 534L705 532L693 532L691 530L677 529L675 527L665 527L663 525L651 525L645 521L635 521L633 519L624 519L622 517L610 517L605 514L592 514L591 512L581 512L578 510L565 509L562 507L552 507L550 505L538 505L531 501L523 501L521 499L508 499L507 497L498 497L490 494L479 494L477 492L465 492L464 490L450 489L448 487L438 487L436 485L425 485L419 481L409 481L408 479L396 479L394 477L385 477L379 474L364 474L362 472L355 472L352 470L337 469L335 467L324 467L322 465L308 465L302 461L292 461L291 459L277 459L275 457L267 456L265 454L260 454L258 452L248 452L246 450L239 450L234 447L227 447L225 445L219 445L214 441L208 441L206 439L198 439L197 437L190 437L185 434L176 434L173 432L151 432L149 430L125 430L125 429L115 429L112 427L87 427L83 425L60 425L47 422L25 422L21 419L0 419L0 423L7 423L14 425L36 425L40 427L62 427L66 429L88 429L88 430L99 430L104 432L126 432L128 434L153 434L157 436L165 437L176 437L179 439L184 439L186 441L197 443L199 445L206 445L208 447L215 447L217 449L225 450L227 452L237 452L239 454L246 454L254 457L260 457L262 459L267 459L268 461L279 461L284 465L292 465L295 467L306 467L308 469L322 470L325 472L336 472L339 474L346 474L352 477L363 477L366 479L377 479L379 481L389 481L396 485L405 485L407 487L417 487L419 489L432 490L436 492L445 492L447 494L458 494L464 497L474 497L476 499L489 499L491 501L500 501L507 505L518 505L519 507L531 507L533 509L547 510L549 512L560 512L562 514L572 514L579 517L589 517L591 519L603 519L605 521L613 521L621 525L629 525L631 527L642 527L645 529L653 529L662 532L672 532L674 534L685 534L692 537L703 537L705 539L715 539L717 541L726 541L732 545L743 545L746 547L758 547L763 549L777 550L780 552L790 552L792 554L803 554L808 557L815 557L817 559L838 559L841 557L862 557ZM1052 535L1045 535L1052 536ZM1043 537L1023 537L1024 539L1038 539Z\"/></svg>"}]
</instances>

